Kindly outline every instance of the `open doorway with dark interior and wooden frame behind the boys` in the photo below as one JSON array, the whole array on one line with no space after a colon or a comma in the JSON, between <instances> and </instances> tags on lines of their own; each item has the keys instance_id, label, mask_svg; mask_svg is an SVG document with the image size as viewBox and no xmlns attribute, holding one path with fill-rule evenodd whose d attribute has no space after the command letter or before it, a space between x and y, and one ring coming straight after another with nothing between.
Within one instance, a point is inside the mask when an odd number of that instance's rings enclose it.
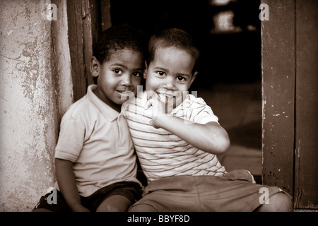
<instances>
[{"instance_id":1,"label":"open doorway with dark interior and wooden frame behind the boys","mask_svg":"<svg viewBox=\"0 0 318 226\"><path fill-rule=\"evenodd\" d=\"M232 141L223 165L281 187L295 208L317 209L317 1L261 2L269 20L259 20L260 2L252 0L67 1L73 99L94 82L87 59L102 30L121 23L146 35L187 30L202 56L190 91Z\"/></svg>"}]
</instances>

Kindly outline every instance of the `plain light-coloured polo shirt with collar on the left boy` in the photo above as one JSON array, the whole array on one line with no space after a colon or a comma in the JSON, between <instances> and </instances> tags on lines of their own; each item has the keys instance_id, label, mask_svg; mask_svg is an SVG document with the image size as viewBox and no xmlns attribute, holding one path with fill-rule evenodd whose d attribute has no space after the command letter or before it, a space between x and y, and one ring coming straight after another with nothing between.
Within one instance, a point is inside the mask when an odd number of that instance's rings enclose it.
<instances>
[{"instance_id":1,"label":"plain light-coloured polo shirt with collar on the left boy","mask_svg":"<svg viewBox=\"0 0 318 226\"><path fill-rule=\"evenodd\" d=\"M89 196L115 182L137 182L136 155L124 117L90 85L61 119L55 157L74 162L78 193ZM57 186L58 188L58 186Z\"/></svg>"}]
</instances>

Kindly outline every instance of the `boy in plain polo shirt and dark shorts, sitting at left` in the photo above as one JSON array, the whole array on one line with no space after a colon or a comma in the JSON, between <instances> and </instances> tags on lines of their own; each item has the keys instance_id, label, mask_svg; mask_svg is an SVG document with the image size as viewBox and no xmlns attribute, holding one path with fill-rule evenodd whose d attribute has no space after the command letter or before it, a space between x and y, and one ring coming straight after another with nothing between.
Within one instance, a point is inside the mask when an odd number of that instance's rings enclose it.
<instances>
[{"instance_id":1,"label":"boy in plain polo shirt and dark shorts, sitting at left","mask_svg":"<svg viewBox=\"0 0 318 226\"><path fill-rule=\"evenodd\" d=\"M42 196L34 211L126 211L141 198L134 145L120 115L122 95L136 95L143 73L143 43L136 30L102 33L90 71L98 78L61 120L55 152L57 204Z\"/></svg>"}]
</instances>

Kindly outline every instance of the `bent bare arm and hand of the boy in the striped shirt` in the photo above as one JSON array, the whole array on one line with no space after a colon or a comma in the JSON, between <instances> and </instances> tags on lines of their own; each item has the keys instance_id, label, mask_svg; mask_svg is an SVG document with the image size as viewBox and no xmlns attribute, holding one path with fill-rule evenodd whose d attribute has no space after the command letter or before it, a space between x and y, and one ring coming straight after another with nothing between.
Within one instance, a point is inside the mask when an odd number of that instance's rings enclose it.
<instances>
[{"instance_id":1,"label":"bent bare arm and hand of the boy in the striped shirt","mask_svg":"<svg viewBox=\"0 0 318 226\"><path fill-rule=\"evenodd\" d=\"M163 114L163 105L161 105L160 100L155 99L148 100L145 109L151 105L153 105L153 119L150 123L155 128L165 129L207 153L221 155L228 150L230 146L228 133L217 122L198 124Z\"/></svg>"}]
</instances>

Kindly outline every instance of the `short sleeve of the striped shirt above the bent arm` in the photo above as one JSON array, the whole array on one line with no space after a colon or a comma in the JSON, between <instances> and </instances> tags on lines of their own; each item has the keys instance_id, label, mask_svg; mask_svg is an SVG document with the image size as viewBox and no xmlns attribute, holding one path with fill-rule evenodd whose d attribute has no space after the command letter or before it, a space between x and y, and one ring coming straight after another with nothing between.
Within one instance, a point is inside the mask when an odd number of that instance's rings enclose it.
<instances>
[{"instance_id":1,"label":"short sleeve of the striped shirt above the bent arm","mask_svg":"<svg viewBox=\"0 0 318 226\"><path fill-rule=\"evenodd\" d=\"M211 107L206 105L206 102L201 97L192 100L186 118L199 124L206 124L210 121L218 123L218 117L213 114Z\"/></svg>"}]
</instances>

